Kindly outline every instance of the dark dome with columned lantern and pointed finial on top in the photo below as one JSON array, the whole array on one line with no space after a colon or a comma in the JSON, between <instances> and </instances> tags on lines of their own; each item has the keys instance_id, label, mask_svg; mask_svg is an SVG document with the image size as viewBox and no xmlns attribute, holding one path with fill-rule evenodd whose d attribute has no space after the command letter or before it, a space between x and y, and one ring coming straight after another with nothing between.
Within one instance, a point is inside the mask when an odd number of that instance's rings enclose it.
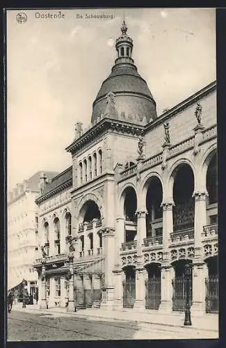
<instances>
[{"instance_id":1,"label":"dark dome with columned lantern and pointed finial on top","mask_svg":"<svg viewBox=\"0 0 226 348\"><path fill-rule=\"evenodd\" d=\"M115 47L118 58L92 104L92 123L103 115L133 123L150 122L151 118L156 118L156 103L131 58L133 44L125 30L116 40ZM113 95L110 99L109 93Z\"/></svg>"}]
</instances>

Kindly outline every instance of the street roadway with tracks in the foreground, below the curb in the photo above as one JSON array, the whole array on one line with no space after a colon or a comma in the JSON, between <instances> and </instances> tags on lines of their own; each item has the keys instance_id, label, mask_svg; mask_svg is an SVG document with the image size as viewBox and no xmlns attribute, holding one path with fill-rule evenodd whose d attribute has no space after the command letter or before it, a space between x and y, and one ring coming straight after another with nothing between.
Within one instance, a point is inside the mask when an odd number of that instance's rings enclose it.
<instances>
[{"instance_id":1,"label":"street roadway with tracks in the foreground, below the curb","mask_svg":"<svg viewBox=\"0 0 226 348\"><path fill-rule=\"evenodd\" d=\"M8 313L8 341L160 340L218 338L217 331L164 326L134 320L85 317L77 313L13 308Z\"/></svg>"}]
</instances>

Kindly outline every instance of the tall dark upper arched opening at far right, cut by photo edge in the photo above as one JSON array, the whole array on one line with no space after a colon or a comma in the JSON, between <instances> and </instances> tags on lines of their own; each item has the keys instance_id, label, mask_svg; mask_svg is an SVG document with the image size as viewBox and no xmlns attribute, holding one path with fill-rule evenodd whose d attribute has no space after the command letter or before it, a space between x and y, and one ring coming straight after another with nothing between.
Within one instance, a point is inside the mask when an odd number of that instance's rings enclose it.
<instances>
[{"instance_id":1,"label":"tall dark upper arched opening at far right, cut by photo edge","mask_svg":"<svg viewBox=\"0 0 226 348\"><path fill-rule=\"evenodd\" d=\"M218 172L217 172L217 155L214 155L207 168L207 223L213 224L218 222Z\"/></svg>"}]
</instances>

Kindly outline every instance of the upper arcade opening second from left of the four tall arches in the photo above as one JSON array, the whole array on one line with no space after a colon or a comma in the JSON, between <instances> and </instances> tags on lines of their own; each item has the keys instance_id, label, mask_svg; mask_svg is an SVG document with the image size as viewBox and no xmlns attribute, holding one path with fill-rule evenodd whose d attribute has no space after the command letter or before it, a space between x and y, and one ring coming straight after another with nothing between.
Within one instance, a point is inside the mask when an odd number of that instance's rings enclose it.
<instances>
[{"instance_id":1,"label":"upper arcade opening second from left of the four tall arches","mask_svg":"<svg viewBox=\"0 0 226 348\"><path fill-rule=\"evenodd\" d=\"M163 188L158 177L152 177L149 182L146 196L146 230L147 238L153 239L153 242L159 240L162 244L163 235Z\"/></svg>"}]
</instances>

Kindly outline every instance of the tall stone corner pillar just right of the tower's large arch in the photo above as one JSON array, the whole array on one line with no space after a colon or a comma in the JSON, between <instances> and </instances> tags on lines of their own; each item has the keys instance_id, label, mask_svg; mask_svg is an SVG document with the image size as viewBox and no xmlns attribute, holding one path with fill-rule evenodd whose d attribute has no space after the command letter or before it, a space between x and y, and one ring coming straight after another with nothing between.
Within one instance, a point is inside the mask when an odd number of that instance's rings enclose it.
<instances>
[{"instance_id":1,"label":"tall stone corner pillar just right of the tower's large arch","mask_svg":"<svg viewBox=\"0 0 226 348\"><path fill-rule=\"evenodd\" d=\"M103 246L105 258L105 281L103 287L103 301L101 308L106 310L113 310L114 302L114 285L113 285L113 266L114 266L114 253L115 248L115 230L114 228L104 228L103 230Z\"/></svg>"}]
</instances>

